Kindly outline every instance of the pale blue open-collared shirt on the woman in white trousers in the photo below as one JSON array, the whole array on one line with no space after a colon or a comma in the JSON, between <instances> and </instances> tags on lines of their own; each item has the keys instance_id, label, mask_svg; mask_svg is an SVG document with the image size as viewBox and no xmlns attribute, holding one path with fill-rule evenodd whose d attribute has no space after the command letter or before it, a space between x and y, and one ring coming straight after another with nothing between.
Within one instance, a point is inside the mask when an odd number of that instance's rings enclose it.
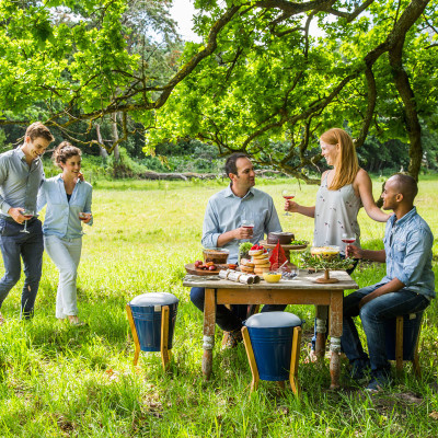
<instances>
[{"instance_id":1,"label":"pale blue open-collared shirt on the woman in white trousers","mask_svg":"<svg viewBox=\"0 0 438 438\"><path fill-rule=\"evenodd\" d=\"M83 232L79 214L91 212L91 184L78 180L69 203L61 175L46 180L39 189L37 203L38 212L47 204L43 233L64 239L80 238ZM92 223L93 219L88 224Z\"/></svg>"}]
</instances>

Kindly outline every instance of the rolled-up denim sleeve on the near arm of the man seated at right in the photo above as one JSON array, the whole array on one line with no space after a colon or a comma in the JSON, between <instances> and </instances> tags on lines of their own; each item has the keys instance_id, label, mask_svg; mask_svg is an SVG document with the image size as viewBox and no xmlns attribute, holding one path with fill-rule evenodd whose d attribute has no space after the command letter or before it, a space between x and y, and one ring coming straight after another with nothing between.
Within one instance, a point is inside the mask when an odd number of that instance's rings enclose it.
<instances>
[{"instance_id":1,"label":"rolled-up denim sleeve on the near arm of the man seated at right","mask_svg":"<svg viewBox=\"0 0 438 438\"><path fill-rule=\"evenodd\" d=\"M407 237L403 270L396 275L406 287L419 283L431 246L433 237L423 229L414 230Z\"/></svg>"}]
</instances>

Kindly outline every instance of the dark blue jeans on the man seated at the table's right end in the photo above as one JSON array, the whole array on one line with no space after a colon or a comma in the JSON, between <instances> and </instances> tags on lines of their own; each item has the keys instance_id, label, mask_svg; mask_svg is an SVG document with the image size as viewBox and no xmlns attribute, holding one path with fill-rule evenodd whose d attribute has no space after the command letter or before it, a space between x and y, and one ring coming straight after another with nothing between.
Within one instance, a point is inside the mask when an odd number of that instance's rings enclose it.
<instances>
[{"instance_id":1,"label":"dark blue jeans on the man seated at the table's right end","mask_svg":"<svg viewBox=\"0 0 438 438\"><path fill-rule=\"evenodd\" d=\"M384 321L397 315L417 313L429 306L429 300L406 288L390 292L369 301L359 310L359 301L381 285L368 286L344 297L343 335L341 345L343 351L353 362L357 359L368 359L357 333L354 316L360 316L365 334L367 335L368 355L371 371L388 373L390 362L387 357Z\"/></svg>"}]
</instances>

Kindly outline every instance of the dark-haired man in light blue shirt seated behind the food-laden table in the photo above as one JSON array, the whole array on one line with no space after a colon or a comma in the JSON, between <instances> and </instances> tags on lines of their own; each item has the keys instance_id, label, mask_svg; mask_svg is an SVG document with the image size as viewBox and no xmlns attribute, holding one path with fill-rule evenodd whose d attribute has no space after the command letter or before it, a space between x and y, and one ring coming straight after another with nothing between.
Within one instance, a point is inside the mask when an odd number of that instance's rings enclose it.
<instances>
[{"instance_id":1,"label":"dark-haired man in light blue shirt seated behind the food-laden table","mask_svg":"<svg viewBox=\"0 0 438 438\"><path fill-rule=\"evenodd\" d=\"M242 240L257 243L264 234L281 231L273 198L255 185L255 172L251 160L244 153L233 153L226 162L226 173L230 185L215 194L208 200L204 218L204 247L224 247L230 251L228 262L237 263L239 245ZM252 216L254 229L242 227L242 219ZM192 288L192 302L204 312L204 288ZM229 345L235 346L241 341L242 320L246 318L246 306L233 306L229 310L218 306L216 323L226 332L230 332Z\"/></svg>"}]
</instances>

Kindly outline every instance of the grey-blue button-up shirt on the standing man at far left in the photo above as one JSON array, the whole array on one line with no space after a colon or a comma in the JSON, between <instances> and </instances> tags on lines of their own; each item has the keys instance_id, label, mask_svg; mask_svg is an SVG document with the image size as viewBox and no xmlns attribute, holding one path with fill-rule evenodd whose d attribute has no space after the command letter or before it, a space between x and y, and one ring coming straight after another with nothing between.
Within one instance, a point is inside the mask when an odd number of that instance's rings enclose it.
<instances>
[{"instance_id":1,"label":"grey-blue button-up shirt on the standing man at far left","mask_svg":"<svg viewBox=\"0 0 438 438\"><path fill-rule=\"evenodd\" d=\"M36 210L36 196L44 181L43 163L39 158L31 166L21 147L0 154L0 211L11 217L10 208Z\"/></svg>"}]
</instances>

